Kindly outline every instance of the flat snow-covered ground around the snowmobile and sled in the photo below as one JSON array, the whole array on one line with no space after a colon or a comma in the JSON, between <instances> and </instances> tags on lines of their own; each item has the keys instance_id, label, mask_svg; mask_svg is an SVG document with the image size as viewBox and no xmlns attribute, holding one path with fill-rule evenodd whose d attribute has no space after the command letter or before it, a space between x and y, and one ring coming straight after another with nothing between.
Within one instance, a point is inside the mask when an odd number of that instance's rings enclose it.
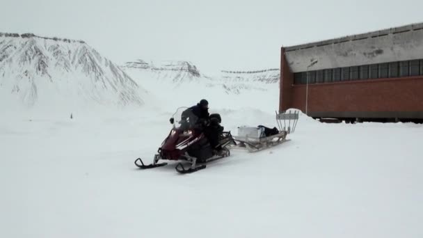
<instances>
[{"instance_id":1,"label":"flat snow-covered ground around the snowmobile and sled","mask_svg":"<svg viewBox=\"0 0 423 238\"><path fill-rule=\"evenodd\" d=\"M212 111L234 134L276 125L273 111L222 104ZM171 113L1 116L0 237L423 235L422 125L301 115L276 148L234 150L189 175L174 164L138 170L134 159L151 161Z\"/></svg>"}]
</instances>

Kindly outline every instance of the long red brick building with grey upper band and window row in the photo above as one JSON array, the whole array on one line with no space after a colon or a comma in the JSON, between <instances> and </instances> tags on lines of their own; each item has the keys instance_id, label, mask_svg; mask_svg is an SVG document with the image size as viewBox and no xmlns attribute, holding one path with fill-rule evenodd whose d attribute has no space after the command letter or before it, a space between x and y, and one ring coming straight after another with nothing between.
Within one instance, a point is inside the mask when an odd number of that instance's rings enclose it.
<instances>
[{"instance_id":1,"label":"long red brick building with grey upper band and window row","mask_svg":"<svg viewBox=\"0 0 423 238\"><path fill-rule=\"evenodd\" d=\"M282 47L280 111L423 120L423 23Z\"/></svg>"}]
</instances>

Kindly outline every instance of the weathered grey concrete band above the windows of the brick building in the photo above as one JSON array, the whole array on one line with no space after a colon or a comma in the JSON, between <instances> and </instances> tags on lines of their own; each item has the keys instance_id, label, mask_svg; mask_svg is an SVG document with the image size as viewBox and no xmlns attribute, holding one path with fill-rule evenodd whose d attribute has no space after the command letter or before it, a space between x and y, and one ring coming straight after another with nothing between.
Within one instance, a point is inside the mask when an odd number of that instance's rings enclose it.
<instances>
[{"instance_id":1,"label":"weathered grey concrete band above the windows of the brick building","mask_svg":"<svg viewBox=\"0 0 423 238\"><path fill-rule=\"evenodd\" d=\"M285 48L292 72L423 59L423 23Z\"/></svg>"}]
</instances>

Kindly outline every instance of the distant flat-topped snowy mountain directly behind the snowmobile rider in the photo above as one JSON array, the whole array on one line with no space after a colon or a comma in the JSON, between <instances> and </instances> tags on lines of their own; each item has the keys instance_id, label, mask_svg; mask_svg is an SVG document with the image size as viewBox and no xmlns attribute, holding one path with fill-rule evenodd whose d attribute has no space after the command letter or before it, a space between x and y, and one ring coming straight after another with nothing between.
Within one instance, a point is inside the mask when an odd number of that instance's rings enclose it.
<instances>
[{"instance_id":1,"label":"distant flat-topped snowy mountain directly behind the snowmobile rider","mask_svg":"<svg viewBox=\"0 0 423 238\"><path fill-rule=\"evenodd\" d=\"M205 76L189 61L150 62L143 60L127 62L122 69L138 84L142 84L154 100L173 110L187 106L201 98L228 96L219 82Z\"/></svg>"}]
</instances>

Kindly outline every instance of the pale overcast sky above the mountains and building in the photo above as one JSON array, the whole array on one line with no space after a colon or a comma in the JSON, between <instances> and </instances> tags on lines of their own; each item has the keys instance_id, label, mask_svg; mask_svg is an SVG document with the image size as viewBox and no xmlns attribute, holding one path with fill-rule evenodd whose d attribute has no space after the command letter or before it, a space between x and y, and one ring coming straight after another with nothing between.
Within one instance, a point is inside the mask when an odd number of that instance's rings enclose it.
<instances>
[{"instance_id":1,"label":"pale overcast sky above the mountains and building","mask_svg":"<svg viewBox=\"0 0 423 238\"><path fill-rule=\"evenodd\" d=\"M423 22L421 0L1 0L0 31L80 39L122 64L279 68L280 47Z\"/></svg>"}]
</instances>

